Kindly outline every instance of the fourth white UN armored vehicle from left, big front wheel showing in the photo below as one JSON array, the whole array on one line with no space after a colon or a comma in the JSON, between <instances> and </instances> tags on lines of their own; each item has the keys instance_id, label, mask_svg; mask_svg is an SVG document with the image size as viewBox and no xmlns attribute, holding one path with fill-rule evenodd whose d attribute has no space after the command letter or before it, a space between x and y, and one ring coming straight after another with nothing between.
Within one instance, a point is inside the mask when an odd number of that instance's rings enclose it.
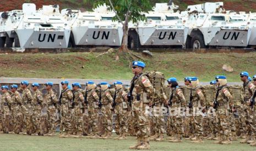
<instances>
[{"instance_id":1,"label":"fourth white UN armored vehicle from left, big front wheel showing","mask_svg":"<svg viewBox=\"0 0 256 151\"><path fill-rule=\"evenodd\" d=\"M249 43L246 17L227 13L223 2L191 5L181 14L189 27L187 48L246 48Z\"/></svg>"}]
</instances>

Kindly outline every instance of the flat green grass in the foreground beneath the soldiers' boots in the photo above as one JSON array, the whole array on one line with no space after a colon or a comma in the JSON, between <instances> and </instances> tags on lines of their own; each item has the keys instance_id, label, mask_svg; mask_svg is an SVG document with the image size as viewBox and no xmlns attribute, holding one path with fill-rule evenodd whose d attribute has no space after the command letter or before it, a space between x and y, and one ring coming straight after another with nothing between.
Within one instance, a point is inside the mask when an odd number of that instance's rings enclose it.
<instances>
[{"instance_id":1,"label":"flat green grass in the foreground beneath the soldiers' boots","mask_svg":"<svg viewBox=\"0 0 256 151\"><path fill-rule=\"evenodd\" d=\"M115 136L112 136L113 138ZM46 136L24 136L0 134L0 150L129 150L135 144L135 137L127 140L99 140L88 138L58 138ZM189 141L183 143L150 142L150 150L255 150L248 144L238 141L230 145L214 144L214 141L205 141L203 144L194 144Z\"/></svg>"}]
</instances>

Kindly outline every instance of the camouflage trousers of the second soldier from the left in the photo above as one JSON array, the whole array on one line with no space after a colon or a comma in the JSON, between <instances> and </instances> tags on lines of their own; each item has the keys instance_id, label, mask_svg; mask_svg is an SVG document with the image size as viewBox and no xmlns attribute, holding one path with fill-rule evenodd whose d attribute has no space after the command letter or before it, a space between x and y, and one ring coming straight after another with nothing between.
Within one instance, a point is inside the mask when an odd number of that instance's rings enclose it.
<instances>
[{"instance_id":1,"label":"camouflage trousers of the second soldier from the left","mask_svg":"<svg viewBox=\"0 0 256 151\"><path fill-rule=\"evenodd\" d=\"M22 117L23 117L23 115L22 115L21 111L13 111L12 124L13 124L13 131L15 133L21 132Z\"/></svg>"}]
</instances>

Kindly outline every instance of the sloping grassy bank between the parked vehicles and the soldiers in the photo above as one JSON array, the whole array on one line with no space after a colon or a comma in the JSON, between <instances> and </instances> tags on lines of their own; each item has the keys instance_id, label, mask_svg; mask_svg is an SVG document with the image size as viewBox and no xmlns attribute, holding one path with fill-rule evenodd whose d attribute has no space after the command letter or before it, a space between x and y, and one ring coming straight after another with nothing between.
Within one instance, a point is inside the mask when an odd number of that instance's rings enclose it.
<instances>
[{"instance_id":1,"label":"sloping grassy bank between the parked vehicles and the soldiers","mask_svg":"<svg viewBox=\"0 0 256 151\"><path fill-rule=\"evenodd\" d=\"M100 53L62 54L0 54L0 77L23 78L78 78L78 79L131 79L132 60L115 53L96 57ZM228 82L239 82L239 73L256 74L256 53L247 54L197 54L197 53L153 53L146 57L145 70L161 71L166 78L197 76L201 82L209 82L215 75L226 75ZM222 66L230 65L234 71L228 73Z\"/></svg>"}]
</instances>

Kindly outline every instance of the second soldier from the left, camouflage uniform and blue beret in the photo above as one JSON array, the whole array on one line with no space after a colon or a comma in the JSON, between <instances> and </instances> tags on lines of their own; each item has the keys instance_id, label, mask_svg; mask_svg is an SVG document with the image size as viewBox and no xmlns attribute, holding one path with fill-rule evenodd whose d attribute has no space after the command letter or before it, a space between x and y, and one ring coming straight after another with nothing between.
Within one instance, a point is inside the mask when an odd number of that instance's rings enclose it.
<instances>
[{"instance_id":1,"label":"second soldier from the left, camouflage uniform and blue beret","mask_svg":"<svg viewBox=\"0 0 256 151\"><path fill-rule=\"evenodd\" d=\"M19 134L19 132L21 132L21 126L22 126L21 97L19 92L17 91L18 85L14 84L10 86L10 89L12 91L11 111L12 111L13 132Z\"/></svg>"}]
</instances>

